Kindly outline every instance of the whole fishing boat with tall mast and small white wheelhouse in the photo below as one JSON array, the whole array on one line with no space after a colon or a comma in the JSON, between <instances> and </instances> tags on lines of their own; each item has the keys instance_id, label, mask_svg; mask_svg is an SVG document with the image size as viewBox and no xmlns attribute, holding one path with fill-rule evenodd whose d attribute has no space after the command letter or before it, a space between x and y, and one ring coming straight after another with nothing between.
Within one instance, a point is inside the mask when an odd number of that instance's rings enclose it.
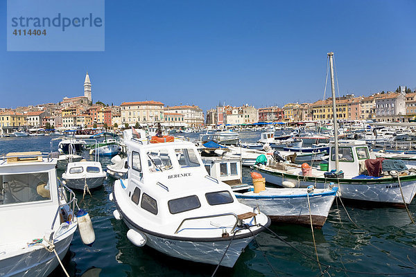
<instances>
[{"instance_id":1,"label":"whole fishing boat with tall mast and small white wheelhouse","mask_svg":"<svg viewBox=\"0 0 416 277\"><path fill-rule=\"evenodd\" d=\"M370 159L365 141L342 141L338 143L338 123L336 120L336 96L333 78L333 53L328 53L331 72L331 91L333 100L334 141L329 143L329 172L311 168L303 172L297 165L271 161L267 166L253 166L271 184L287 184L291 187L324 188L333 183L338 187L340 197L358 202L389 204L406 207L416 194L416 170L397 172L388 175L363 175L363 163ZM284 181L286 183L284 183Z\"/></svg>"}]
</instances>

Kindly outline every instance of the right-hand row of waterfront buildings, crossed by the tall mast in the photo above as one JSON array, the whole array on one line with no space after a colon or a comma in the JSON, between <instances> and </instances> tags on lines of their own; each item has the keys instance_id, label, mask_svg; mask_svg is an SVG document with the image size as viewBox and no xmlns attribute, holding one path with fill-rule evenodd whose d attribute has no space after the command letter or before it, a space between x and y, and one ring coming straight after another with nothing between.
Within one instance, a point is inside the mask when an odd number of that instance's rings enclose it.
<instances>
[{"instance_id":1,"label":"right-hand row of waterfront buildings, crossed by the tall mast","mask_svg":"<svg viewBox=\"0 0 416 277\"><path fill-rule=\"evenodd\" d=\"M288 103L284 107L230 107L218 105L207 111L207 125L245 125L256 122L296 123L325 121L333 118L332 98L313 103ZM339 120L373 120L376 122L409 122L416 119L416 92L374 93L372 96L353 94L336 98ZM237 116L237 117L236 117ZM238 118L239 120L236 120Z\"/></svg>"}]
</instances>

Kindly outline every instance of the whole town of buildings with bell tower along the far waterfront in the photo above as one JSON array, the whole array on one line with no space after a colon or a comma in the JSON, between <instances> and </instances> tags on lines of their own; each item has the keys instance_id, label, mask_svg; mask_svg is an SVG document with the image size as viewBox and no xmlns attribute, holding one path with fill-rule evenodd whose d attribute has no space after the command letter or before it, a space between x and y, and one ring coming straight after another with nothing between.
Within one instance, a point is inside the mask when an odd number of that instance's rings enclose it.
<instances>
[{"instance_id":1,"label":"whole town of buildings with bell tower along the far waterfront","mask_svg":"<svg viewBox=\"0 0 416 277\"><path fill-rule=\"evenodd\" d=\"M283 107L235 107L219 103L206 114L198 105L169 107L159 100L122 102L108 105L93 102L92 82L85 75L84 95L64 97L58 103L6 109L0 107L0 135L15 129L120 129L148 127L161 123L170 129L201 129L218 125L245 126L261 123L329 122L332 99L313 103L287 103ZM370 96L347 94L336 98L338 120L373 122L413 122L416 118L416 91L399 86L396 91L382 91Z\"/></svg>"}]
</instances>

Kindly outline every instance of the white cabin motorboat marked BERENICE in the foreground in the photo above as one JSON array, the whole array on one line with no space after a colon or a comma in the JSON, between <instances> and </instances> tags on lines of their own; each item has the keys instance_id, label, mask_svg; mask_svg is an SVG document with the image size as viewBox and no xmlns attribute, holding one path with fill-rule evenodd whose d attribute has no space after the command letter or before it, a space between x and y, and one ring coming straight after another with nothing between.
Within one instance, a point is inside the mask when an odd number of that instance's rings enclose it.
<instances>
[{"instance_id":1,"label":"white cabin motorboat marked BERENICE in the foreground","mask_svg":"<svg viewBox=\"0 0 416 277\"><path fill-rule=\"evenodd\" d=\"M110 200L135 246L233 267L270 225L266 215L239 203L227 184L207 175L193 143L127 144L128 179L114 182Z\"/></svg>"}]
</instances>

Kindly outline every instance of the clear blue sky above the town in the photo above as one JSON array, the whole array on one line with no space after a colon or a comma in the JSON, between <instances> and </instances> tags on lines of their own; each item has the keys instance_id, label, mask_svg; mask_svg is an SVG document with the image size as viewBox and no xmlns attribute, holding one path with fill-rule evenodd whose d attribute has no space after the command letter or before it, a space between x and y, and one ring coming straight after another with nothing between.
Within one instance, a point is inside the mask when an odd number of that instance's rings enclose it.
<instances>
[{"instance_id":1,"label":"clear blue sky above the town","mask_svg":"<svg viewBox=\"0 0 416 277\"><path fill-rule=\"evenodd\" d=\"M94 101L255 107L322 98L327 53L340 94L416 89L416 1L105 1L105 51L7 52L0 107Z\"/></svg>"}]
</instances>

